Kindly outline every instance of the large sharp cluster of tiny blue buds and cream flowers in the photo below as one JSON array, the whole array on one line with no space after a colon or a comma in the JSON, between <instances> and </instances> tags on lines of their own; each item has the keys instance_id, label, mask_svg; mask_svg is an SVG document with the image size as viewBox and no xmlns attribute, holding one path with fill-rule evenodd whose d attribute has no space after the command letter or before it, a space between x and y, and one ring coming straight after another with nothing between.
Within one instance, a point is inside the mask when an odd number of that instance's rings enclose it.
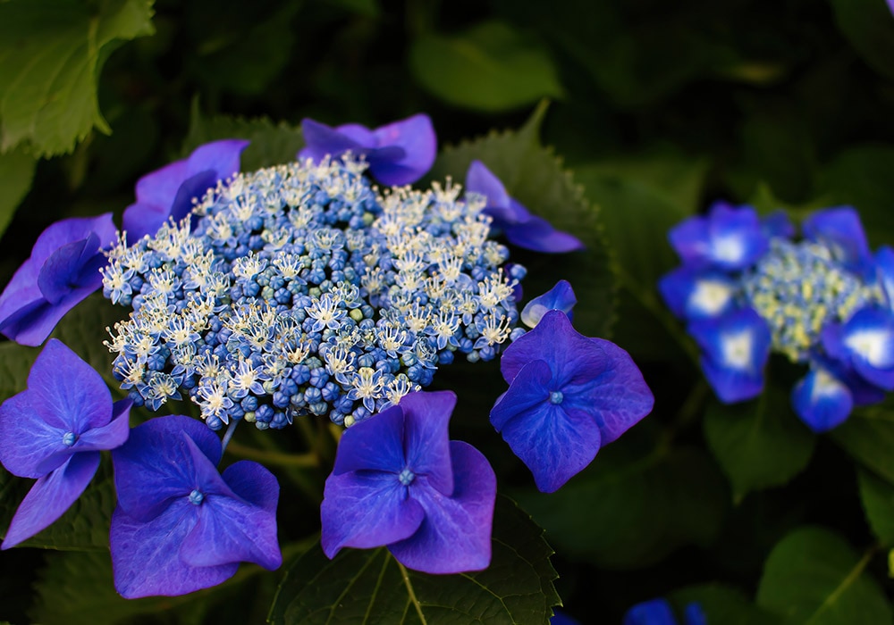
<instances>
[{"instance_id":1,"label":"large sharp cluster of tiny blue buds and cream flowers","mask_svg":"<svg viewBox=\"0 0 894 625\"><path fill-rule=\"evenodd\" d=\"M525 270L460 188L380 194L350 158L223 181L179 224L109 253L114 376L156 410L183 395L212 429L349 425L426 387L459 352L490 360L522 332ZM514 334L513 334L514 333Z\"/></svg>"}]
</instances>

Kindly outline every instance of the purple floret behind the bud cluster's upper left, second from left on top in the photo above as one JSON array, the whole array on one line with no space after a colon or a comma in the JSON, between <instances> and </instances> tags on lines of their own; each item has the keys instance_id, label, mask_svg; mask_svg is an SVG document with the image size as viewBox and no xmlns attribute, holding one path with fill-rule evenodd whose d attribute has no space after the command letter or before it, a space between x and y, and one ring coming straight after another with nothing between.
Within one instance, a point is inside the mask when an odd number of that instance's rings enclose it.
<instances>
[{"instance_id":1,"label":"purple floret behind the bud cluster's upper left, second from left on top","mask_svg":"<svg viewBox=\"0 0 894 625\"><path fill-rule=\"evenodd\" d=\"M248 145L240 139L213 141L137 180L137 201L124 209L128 240L151 237L168 220L181 221L195 198L239 171L240 155Z\"/></svg>"}]
</instances>

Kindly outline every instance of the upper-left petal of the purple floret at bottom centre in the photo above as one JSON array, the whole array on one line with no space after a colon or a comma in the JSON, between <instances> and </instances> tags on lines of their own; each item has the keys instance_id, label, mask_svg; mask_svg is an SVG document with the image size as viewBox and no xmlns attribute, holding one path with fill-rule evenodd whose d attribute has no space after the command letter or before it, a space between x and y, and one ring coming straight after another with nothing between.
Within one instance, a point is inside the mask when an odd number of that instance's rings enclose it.
<instances>
[{"instance_id":1,"label":"upper-left petal of the purple floret at bottom centre","mask_svg":"<svg viewBox=\"0 0 894 625\"><path fill-rule=\"evenodd\" d=\"M333 473L389 471L400 473L406 465L403 446L404 417L400 406L392 406L370 419L344 430L339 441Z\"/></svg>"}]
</instances>

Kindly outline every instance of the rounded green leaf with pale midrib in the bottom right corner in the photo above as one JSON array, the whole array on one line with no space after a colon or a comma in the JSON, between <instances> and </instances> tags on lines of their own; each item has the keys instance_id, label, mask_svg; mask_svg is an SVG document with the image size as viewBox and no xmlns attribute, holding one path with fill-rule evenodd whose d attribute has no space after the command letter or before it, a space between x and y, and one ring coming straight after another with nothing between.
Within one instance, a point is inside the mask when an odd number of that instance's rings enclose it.
<instances>
[{"instance_id":1,"label":"rounded green leaf with pale midrib in the bottom right corner","mask_svg":"<svg viewBox=\"0 0 894 625\"><path fill-rule=\"evenodd\" d=\"M864 571L870 556L828 529L795 529L767 557L757 604L786 625L890 625L890 605Z\"/></svg>"}]
</instances>

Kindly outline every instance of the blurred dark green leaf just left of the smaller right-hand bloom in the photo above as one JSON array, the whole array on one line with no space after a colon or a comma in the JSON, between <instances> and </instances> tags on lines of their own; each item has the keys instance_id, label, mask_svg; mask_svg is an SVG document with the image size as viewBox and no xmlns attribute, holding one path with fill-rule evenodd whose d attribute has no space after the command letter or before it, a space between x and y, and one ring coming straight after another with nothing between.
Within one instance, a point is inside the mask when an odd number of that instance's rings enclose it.
<instances>
[{"instance_id":1,"label":"blurred dark green leaf just left of the smaller right-hand bloom","mask_svg":"<svg viewBox=\"0 0 894 625\"><path fill-rule=\"evenodd\" d=\"M676 360L692 350L682 324L658 295L658 280L679 264L668 230L696 212L706 163L655 150L578 167L576 179L600 208L620 280L615 341L636 358Z\"/></svg>"}]
</instances>

